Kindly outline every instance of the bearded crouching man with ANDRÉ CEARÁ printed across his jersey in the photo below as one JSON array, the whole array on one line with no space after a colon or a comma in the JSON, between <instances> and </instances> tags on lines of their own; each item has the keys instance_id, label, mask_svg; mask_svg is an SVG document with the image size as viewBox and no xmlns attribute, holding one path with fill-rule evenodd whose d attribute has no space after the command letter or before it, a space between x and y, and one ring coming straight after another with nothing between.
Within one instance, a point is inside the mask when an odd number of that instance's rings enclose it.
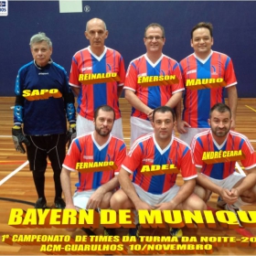
<instances>
[{"instance_id":1,"label":"bearded crouching man with ANDR\u00c9 CEAR\u00c1 printed across his jersey","mask_svg":"<svg viewBox=\"0 0 256 256\"><path fill-rule=\"evenodd\" d=\"M236 213L240 206L256 202L256 155L247 137L230 130L231 123L229 107L215 104L209 112L210 130L198 133L191 148L197 166L197 195L207 201L214 192L220 207ZM237 160L248 176L235 172Z\"/></svg>"}]
</instances>

